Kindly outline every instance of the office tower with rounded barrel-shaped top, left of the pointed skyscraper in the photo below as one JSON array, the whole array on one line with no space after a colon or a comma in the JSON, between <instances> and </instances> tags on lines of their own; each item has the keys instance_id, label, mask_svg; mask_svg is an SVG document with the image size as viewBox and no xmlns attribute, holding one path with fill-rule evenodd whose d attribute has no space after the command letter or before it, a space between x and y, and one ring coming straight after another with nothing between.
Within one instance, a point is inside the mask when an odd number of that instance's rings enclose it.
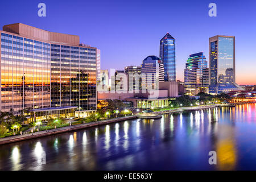
<instances>
[{"instance_id":1,"label":"office tower with rounded barrel-shaped top, left of the pointed skyscraper","mask_svg":"<svg viewBox=\"0 0 256 182\"><path fill-rule=\"evenodd\" d=\"M141 65L142 90L158 90L159 81L164 81L163 62L159 57L147 56Z\"/></svg>"}]
</instances>

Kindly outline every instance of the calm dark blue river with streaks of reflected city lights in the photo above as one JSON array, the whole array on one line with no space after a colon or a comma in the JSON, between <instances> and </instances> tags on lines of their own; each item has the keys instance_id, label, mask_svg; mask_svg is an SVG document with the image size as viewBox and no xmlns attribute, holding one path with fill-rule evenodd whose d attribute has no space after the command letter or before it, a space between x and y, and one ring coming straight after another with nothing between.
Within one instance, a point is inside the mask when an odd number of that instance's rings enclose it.
<instances>
[{"instance_id":1,"label":"calm dark blue river with streaks of reflected city lights","mask_svg":"<svg viewBox=\"0 0 256 182\"><path fill-rule=\"evenodd\" d=\"M212 150L217 152L213 166L208 163ZM2 145L0 169L256 170L256 104L164 114Z\"/></svg>"}]
</instances>

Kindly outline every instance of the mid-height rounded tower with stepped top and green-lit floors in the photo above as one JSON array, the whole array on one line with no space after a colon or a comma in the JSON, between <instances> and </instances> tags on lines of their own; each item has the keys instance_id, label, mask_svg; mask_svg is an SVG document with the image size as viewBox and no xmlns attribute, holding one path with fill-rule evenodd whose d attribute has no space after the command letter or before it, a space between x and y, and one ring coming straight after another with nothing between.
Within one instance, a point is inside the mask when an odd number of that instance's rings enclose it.
<instances>
[{"instance_id":1,"label":"mid-height rounded tower with stepped top and green-lit floors","mask_svg":"<svg viewBox=\"0 0 256 182\"><path fill-rule=\"evenodd\" d=\"M203 52L189 56L184 70L184 85L185 92L189 95L208 93L209 69Z\"/></svg>"}]
</instances>

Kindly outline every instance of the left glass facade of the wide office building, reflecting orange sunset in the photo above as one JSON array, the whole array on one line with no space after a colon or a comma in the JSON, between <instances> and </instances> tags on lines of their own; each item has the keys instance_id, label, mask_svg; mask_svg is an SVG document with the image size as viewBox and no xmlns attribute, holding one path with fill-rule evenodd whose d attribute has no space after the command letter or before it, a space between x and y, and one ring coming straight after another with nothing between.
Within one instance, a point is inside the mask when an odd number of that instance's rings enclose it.
<instances>
[{"instance_id":1,"label":"left glass facade of the wide office building, reflecting orange sunset","mask_svg":"<svg viewBox=\"0 0 256 182\"><path fill-rule=\"evenodd\" d=\"M1 32L1 111L49 107L50 44Z\"/></svg>"}]
</instances>

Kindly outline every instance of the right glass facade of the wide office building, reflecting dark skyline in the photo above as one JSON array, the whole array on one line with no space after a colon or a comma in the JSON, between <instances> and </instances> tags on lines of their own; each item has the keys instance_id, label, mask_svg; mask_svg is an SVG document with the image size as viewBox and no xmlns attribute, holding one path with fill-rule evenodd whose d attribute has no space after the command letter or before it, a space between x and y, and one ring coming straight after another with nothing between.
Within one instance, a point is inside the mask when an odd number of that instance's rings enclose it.
<instances>
[{"instance_id":1,"label":"right glass facade of the wide office building, reflecting dark skyline","mask_svg":"<svg viewBox=\"0 0 256 182\"><path fill-rule=\"evenodd\" d=\"M51 106L96 110L96 48L51 44Z\"/></svg>"}]
</instances>

